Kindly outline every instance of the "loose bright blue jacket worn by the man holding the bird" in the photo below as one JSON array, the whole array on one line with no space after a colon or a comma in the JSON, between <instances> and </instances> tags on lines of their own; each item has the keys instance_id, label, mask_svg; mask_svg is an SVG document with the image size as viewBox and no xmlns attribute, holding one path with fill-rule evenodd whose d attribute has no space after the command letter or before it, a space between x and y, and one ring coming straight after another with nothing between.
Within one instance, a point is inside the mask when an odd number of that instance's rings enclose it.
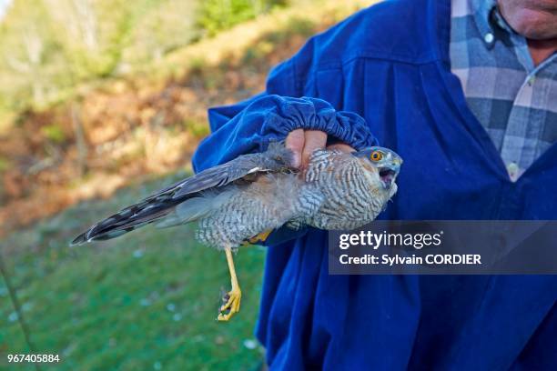
<instances>
[{"instance_id":1,"label":"loose bright blue jacket worn by the man holding the bird","mask_svg":"<svg viewBox=\"0 0 557 371\"><path fill-rule=\"evenodd\" d=\"M209 110L195 168L299 127L372 133L404 158L384 218L555 219L557 146L511 183L451 75L450 17L448 0L389 1L311 38L265 93ZM268 247L257 336L273 370L549 370L556 299L557 276L329 276L309 230Z\"/></svg>"}]
</instances>

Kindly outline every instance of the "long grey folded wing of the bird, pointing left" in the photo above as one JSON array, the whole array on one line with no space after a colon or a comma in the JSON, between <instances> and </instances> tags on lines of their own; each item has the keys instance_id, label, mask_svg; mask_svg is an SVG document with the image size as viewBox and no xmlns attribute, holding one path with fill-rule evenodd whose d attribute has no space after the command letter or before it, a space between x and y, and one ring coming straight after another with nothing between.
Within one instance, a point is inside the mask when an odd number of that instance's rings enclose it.
<instances>
[{"instance_id":1,"label":"long grey folded wing of the bird, pointing left","mask_svg":"<svg viewBox=\"0 0 557 371\"><path fill-rule=\"evenodd\" d=\"M291 152L289 149L281 143L272 143L266 152L240 155L226 164L208 168L148 196L135 205L126 207L113 216L108 216L77 236L72 241L72 245L121 236L140 226L160 221L173 213L180 204L183 204L179 213L182 215L181 221L195 220L207 212L207 207L200 207L198 199L197 202L193 202L194 197L202 193L217 196L218 193L207 193L206 191L216 190L240 180L250 181L249 175L255 175L253 176L255 178L261 173L295 171L290 164ZM201 200L205 198L206 196ZM188 200L191 202L188 203ZM188 212L187 206L192 206L195 211L192 208L191 212ZM167 226L176 224L176 220L173 220Z\"/></svg>"}]
</instances>

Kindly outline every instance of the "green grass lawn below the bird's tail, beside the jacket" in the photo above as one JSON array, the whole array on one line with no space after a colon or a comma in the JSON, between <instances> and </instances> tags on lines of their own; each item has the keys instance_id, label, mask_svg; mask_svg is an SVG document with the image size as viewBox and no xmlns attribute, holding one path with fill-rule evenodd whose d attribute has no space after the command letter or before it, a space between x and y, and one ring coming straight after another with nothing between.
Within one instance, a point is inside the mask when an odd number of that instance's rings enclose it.
<instances>
[{"instance_id":1,"label":"green grass lawn below the bird's tail, beside the jacket","mask_svg":"<svg viewBox=\"0 0 557 371\"><path fill-rule=\"evenodd\" d=\"M224 254L199 246L193 228L144 228L86 246L67 242L86 226L184 174L130 186L14 232L2 241L37 354L59 354L60 370L249 370L263 350L253 328L264 251L236 257L242 310L218 323L228 289ZM0 281L0 368L8 353L29 353L5 282ZM12 365L13 366L13 365ZM16 369L33 369L18 365ZM51 368L46 366L45 368Z\"/></svg>"}]
</instances>

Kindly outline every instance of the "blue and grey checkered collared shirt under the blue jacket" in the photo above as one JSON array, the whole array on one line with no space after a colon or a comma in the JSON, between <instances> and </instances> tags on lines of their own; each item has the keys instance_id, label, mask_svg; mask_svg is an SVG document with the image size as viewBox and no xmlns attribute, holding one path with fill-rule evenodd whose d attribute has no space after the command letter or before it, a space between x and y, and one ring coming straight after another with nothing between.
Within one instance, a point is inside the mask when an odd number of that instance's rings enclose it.
<instances>
[{"instance_id":1,"label":"blue and grey checkered collared shirt under the blue jacket","mask_svg":"<svg viewBox=\"0 0 557 371\"><path fill-rule=\"evenodd\" d=\"M557 53L534 65L495 0L453 0L451 71L516 181L557 141Z\"/></svg>"}]
</instances>

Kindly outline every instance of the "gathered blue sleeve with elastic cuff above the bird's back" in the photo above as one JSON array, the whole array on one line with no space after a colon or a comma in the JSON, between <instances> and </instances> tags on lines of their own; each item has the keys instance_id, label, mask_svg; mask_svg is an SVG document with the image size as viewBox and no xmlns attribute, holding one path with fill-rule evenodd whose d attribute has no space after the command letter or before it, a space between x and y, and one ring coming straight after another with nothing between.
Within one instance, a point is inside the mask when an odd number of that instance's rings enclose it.
<instances>
[{"instance_id":1,"label":"gathered blue sleeve with elastic cuff above the bird's back","mask_svg":"<svg viewBox=\"0 0 557 371\"><path fill-rule=\"evenodd\" d=\"M284 139L292 130L320 130L354 148L373 143L360 115L337 112L318 98L256 95L236 106L209 110L213 133L194 155L196 171L225 163L238 155L263 151L269 141Z\"/></svg>"}]
</instances>

